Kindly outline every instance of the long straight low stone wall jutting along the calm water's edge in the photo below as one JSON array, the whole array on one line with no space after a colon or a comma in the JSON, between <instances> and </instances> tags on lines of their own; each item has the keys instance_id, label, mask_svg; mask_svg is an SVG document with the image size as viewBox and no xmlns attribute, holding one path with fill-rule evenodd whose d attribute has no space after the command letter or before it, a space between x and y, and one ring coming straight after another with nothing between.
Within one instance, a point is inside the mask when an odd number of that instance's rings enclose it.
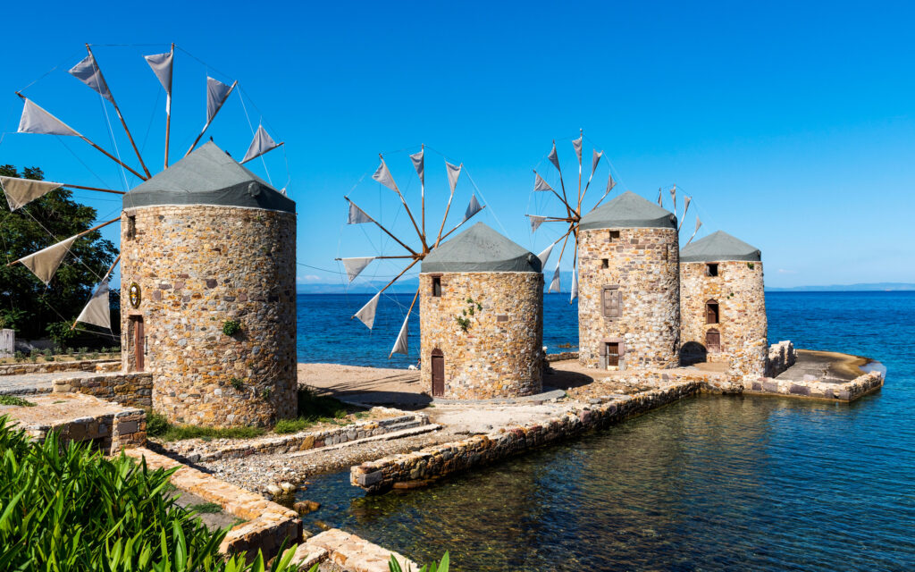
<instances>
[{"instance_id":1,"label":"long straight low stone wall jutting along the calm water's edge","mask_svg":"<svg viewBox=\"0 0 915 572\"><path fill-rule=\"evenodd\" d=\"M427 480L511 457L530 448L576 437L591 429L638 416L700 391L697 382L672 383L634 395L620 395L597 405L575 405L562 416L543 424L500 429L414 453L393 455L350 469L350 483L380 492L396 483Z\"/></svg>"}]
</instances>

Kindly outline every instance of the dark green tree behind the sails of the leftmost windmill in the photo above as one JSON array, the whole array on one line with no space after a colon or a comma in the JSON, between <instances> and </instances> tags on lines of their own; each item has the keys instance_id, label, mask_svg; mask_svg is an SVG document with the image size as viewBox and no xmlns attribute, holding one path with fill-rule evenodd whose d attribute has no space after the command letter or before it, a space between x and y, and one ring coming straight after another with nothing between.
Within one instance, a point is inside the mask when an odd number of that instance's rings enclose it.
<instances>
[{"instance_id":1,"label":"dark green tree behind the sails of the leftmost windmill","mask_svg":"<svg viewBox=\"0 0 915 572\"><path fill-rule=\"evenodd\" d=\"M44 179L38 167L25 167L20 174L16 167L2 165L0 175ZM15 212L8 209L5 194L0 203L0 325L16 329L20 337L44 337L49 324L72 323L117 255L114 243L93 231L73 243L47 287L22 264L6 266L92 228L98 213L72 196L70 190L57 189ZM113 302L116 307L117 299Z\"/></svg>"}]
</instances>

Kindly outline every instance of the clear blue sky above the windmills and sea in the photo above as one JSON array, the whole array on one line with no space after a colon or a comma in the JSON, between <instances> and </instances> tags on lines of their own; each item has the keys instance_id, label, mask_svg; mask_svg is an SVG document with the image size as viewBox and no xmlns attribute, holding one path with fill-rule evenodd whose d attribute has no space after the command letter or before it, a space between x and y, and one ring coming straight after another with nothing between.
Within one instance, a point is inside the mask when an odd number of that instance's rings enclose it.
<instances>
[{"instance_id":1,"label":"clear blue sky above the windmills and sea","mask_svg":"<svg viewBox=\"0 0 915 572\"><path fill-rule=\"evenodd\" d=\"M769 286L915 282L915 7L799 4L52 2L38 14L15 3L5 6L5 21L19 25L4 31L0 163L76 184L136 184L79 140L11 133L14 92L28 86L38 104L136 164L116 123L112 142L98 96L66 74L90 42L147 163L160 168L164 95L141 56L174 41L197 59L176 56L173 159L205 119L206 75L238 80L242 97L208 135L241 156L249 120L256 128L263 117L285 141L253 170L277 188L288 182L297 201L303 282L340 283L337 256L399 254L378 232L346 227L342 197L407 236L396 196L369 176L385 152L418 210L407 153L422 143L463 161L476 184L461 179L446 228L479 189L488 204L479 220L540 252L558 229L532 235L523 215L559 205L532 196L531 169L558 182L544 157L556 139L572 170L579 128L586 175L597 146L618 191L653 200L676 184L694 199L684 230L698 214L699 237L724 230L758 246ZM426 173L437 227L442 155L427 154ZM605 182L598 169L586 206ZM112 197L78 197L116 216ZM396 271L375 263L365 275Z\"/></svg>"}]
</instances>

